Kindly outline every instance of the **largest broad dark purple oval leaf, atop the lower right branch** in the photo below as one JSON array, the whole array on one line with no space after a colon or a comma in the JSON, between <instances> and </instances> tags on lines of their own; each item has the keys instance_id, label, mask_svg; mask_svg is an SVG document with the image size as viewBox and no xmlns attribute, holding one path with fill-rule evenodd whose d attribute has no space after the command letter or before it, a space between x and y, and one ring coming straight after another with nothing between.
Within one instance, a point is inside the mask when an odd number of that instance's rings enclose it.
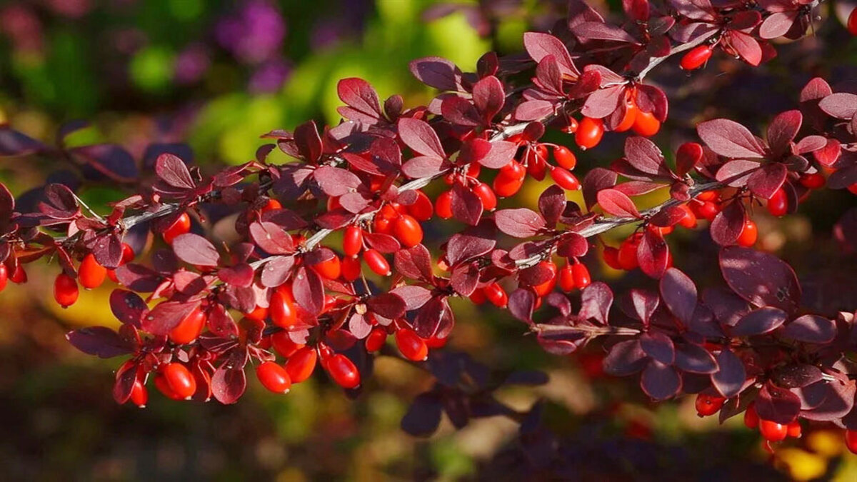
<instances>
[{"instance_id":1,"label":"largest broad dark purple oval leaf, atop the lower right branch","mask_svg":"<svg viewBox=\"0 0 857 482\"><path fill-rule=\"evenodd\" d=\"M794 270L776 256L740 246L720 251L723 279L741 298L758 306L794 312L800 305L800 285Z\"/></svg>"}]
</instances>

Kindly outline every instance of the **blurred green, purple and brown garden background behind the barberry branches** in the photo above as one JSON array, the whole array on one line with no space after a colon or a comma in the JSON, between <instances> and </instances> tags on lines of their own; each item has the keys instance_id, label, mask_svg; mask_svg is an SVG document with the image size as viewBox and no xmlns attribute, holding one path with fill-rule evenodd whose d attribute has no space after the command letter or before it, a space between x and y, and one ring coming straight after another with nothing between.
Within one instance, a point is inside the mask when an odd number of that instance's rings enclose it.
<instances>
[{"instance_id":1,"label":"blurred green, purple and brown garden background behind the barberry branches","mask_svg":"<svg viewBox=\"0 0 857 482\"><path fill-rule=\"evenodd\" d=\"M618 1L596 4L620 11ZM565 2L548 0L4 0L0 122L51 142L61 124L87 119L92 124L69 136L69 145L115 142L136 160L149 144L187 142L195 163L213 172L252 159L269 130L310 118L337 124L340 78L363 77L382 99L400 93L405 105L425 104L433 93L411 77L411 59L446 57L473 70L485 51L520 51L522 33L547 30L564 10ZM656 139L664 151L688 138L699 118L761 126L794 108L812 76L857 78L854 40L840 20L826 18L828 9L818 14L825 20L815 36L777 45L780 57L761 69L719 55L688 78L664 64L654 76L670 98L670 120ZM569 136L551 136L572 145ZM608 135L581 156L583 172L614 159L621 139ZM19 195L57 176L57 162L0 160L0 181ZM529 203L542 190L526 189ZM81 196L103 206L127 194L96 185ZM853 302L853 292L842 292L843 277L854 285L853 273L842 273L842 259L821 255L838 252L830 231L854 196L813 196L800 214L776 223L759 209L760 247L793 263L808 303L835 292L831 285ZM605 240L615 245L627 234ZM445 236L428 232L435 245ZM707 234L677 232L671 243L677 266L695 279L719 280ZM588 263L617 292L650 282L594 258ZM118 360L76 352L63 337L70 328L117 326L106 302L111 287L61 310L44 289L52 271L39 264L27 285L10 284L0 296L4 479L857 479L857 458L843 452L838 431L807 428L771 457L740 418L725 425L699 419L692 396L650 404L635 381L602 377L596 349L548 355L520 323L470 304L455 306L449 349L497 371L546 371L547 384L497 394L522 413L542 401L540 431L520 433L503 417L457 431L445 418L433 436L411 437L400 420L433 378L390 357L378 358L356 401L323 376L286 396L249 377L249 392L235 406L176 403L150 390L145 410L118 407L111 398ZM539 443L560 456L540 463Z\"/></svg>"}]
</instances>

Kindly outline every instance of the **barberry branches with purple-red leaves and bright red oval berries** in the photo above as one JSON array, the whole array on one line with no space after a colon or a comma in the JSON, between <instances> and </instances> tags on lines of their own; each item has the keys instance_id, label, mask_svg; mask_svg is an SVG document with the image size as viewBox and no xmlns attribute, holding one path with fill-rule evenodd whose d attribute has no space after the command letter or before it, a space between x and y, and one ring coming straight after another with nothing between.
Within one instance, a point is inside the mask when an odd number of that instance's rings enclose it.
<instances>
[{"instance_id":1,"label":"barberry branches with purple-red leaves and bright red oval berries","mask_svg":"<svg viewBox=\"0 0 857 482\"><path fill-rule=\"evenodd\" d=\"M813 79L800 109L774 117L764 139L732 120L707 120L697 125L700 142L680 145L672 163L649 139L668 118L667 96L644 82L680 53L686 70L702 68L715 48L764 62L776 54L768 39L803 35L817 4L790 3L794 15L779 15L781 3L632 0L621 27L572 4L554 34L524 35L524 66L494 53L473 73L419 59L414 75L442 93L411 109L345 79L341 124L274 130L255 160L213 176L170 152L153 156L149 171L129 155L81 154L63 136L47 146L4 128L15 142L3 153L75 154L84 178L138 192L102 217L62 184L41 188L32 207L16 207L0 184L0 290L7 278L25 282L23 265L45 256L61 268L62 306L75 304L79 286L116 281L111 310L121 328L68 338L99 357L129 356L113 389L119 403L145 405L149 377L171 399L233 403L248 365L274 393L321 365L356 395L377 355L432 363L454 326L449 298L460 297L506 308L548 352L601 340L604 371L639 373L653 400L698 394L700 415L746 411L748 426L771 442L799 436L800 419L842 426L853 442L854 313L802 306L792 268L752 249L751 218L763 205L775 217L794 213L812 190L857 191L857 94ZM524 70L531 81L515 85ZM576 154L544 140L547 129L573 134L581 151L617 136L623 156L578 180ZM269 162L274 148L295 161ZM506 207L527 178L548 175L537 210ZM433 184L434 199L423 190ZM583 206L566 199L570 190L582 191ZM640 210L633 198L655 191L668 199ZM207 221L224 213L237 241L218 247ZM435 216L464 227L433 255L423 242ZM728 288L698 290L674 267L667 238L700 220L720 246ZM626 225L636 229L618 248L604 245L602 233ZM843 243L853 244L846 231ZM143 253L154 235L163 244ZM599 256L648 277L619 297L618 310L584 264Z\"/></svg>"}]
</instances>

